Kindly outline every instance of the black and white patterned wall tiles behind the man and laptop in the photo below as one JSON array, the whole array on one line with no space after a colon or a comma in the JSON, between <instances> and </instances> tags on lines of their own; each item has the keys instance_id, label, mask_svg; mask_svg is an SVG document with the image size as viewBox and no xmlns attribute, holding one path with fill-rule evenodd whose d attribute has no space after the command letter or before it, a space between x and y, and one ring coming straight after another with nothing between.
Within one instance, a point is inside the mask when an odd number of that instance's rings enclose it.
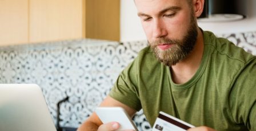
<instances>
[{"instance_id":1,"label":"black and white patterned wall tiles behind the man and laptop","mask_svg":"<svg viewBox=\"0 0 256 131\"><path fill-rule=\"evenodd\" d=\"M219 35L256 55L256 32ZM59 100L61 126L77 128L109 93L119 73L147 46L141 42L80 39L0 47L0 83L35 83L45 95L54 121ZM151 130L143 111L139 130Z\"/></svg>"}]
</instances>

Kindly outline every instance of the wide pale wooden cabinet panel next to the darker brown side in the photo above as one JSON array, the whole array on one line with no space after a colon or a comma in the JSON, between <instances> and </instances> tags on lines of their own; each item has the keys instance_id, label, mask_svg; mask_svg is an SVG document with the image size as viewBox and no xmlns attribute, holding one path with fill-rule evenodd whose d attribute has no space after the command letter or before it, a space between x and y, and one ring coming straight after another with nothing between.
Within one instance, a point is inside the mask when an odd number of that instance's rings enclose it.
<instances>
[{"instance_id":1,"label":"wide pale wooden cabinet panel next to the darker brown side","mask_svg":"<svg viewBox=\"0 0 256 131\"><path fill-rule=\"evenodd\" d=\"M83 1L85 0L30 0L30 42L85 36Z\"/></svg>"}]
</instances>

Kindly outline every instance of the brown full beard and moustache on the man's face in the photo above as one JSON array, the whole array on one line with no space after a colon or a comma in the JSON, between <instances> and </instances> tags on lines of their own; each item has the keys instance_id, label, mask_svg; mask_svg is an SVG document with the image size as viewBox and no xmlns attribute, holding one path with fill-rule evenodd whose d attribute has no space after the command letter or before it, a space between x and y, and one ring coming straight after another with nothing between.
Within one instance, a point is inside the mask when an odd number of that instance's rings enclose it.
<instances>
[{"instance_id":1,"label":"brown full beard and moustache on the man's face","mask_svg":"<svg viewBox=\"0 0 256 131\"><path fill-rule=\"evenodd\" d=\"M182 40L160 38L150 43L157 59L167 66L175 65L181 60L185 59L187 55L193 50L195 42L197 41L197 24L195 19L191 16L189 30ZM167 50L160 50L157 46L159 43L171 43L171 47Z\"/></svg>"}]
</instances>

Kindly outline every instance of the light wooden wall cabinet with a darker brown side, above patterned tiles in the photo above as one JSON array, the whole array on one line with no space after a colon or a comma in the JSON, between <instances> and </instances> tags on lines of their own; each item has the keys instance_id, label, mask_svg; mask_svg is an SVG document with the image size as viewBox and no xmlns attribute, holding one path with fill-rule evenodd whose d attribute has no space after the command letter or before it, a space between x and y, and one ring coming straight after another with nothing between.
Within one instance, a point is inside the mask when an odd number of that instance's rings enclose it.
<instances>
[{"instance_id":1,"label":"light wooden wall cabinet with a darker brown side, above patterned tiles","mask_svg":"<svg viewBox=\"0 0 256 131\"><path fill-rule=\"evenodd\" d=\"M119 40L119 0L0 0L0 46L78 38Z\"/></svg>"}]
</instances>

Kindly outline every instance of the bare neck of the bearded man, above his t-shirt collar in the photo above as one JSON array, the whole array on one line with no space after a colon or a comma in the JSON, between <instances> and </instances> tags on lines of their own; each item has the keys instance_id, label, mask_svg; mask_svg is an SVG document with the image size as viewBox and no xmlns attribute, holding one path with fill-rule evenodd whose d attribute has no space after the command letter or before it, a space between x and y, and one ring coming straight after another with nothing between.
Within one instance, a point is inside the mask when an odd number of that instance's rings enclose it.
<instances>
[{"instance_id":1,"label":"bare neck of the bearded man, above his t-shirt collar","mask_svg":"<svg viewBox=\"0 0 256 131\"><path fill-rule=\"evenodd\" d=\"M201 64L203 56L203 34L198 28L197 41L194 49L190 52L187 58L181 62L171 66L171 75L174 83L183 84L189 81L197 72Z\"/></svg>"}]
</instances>

